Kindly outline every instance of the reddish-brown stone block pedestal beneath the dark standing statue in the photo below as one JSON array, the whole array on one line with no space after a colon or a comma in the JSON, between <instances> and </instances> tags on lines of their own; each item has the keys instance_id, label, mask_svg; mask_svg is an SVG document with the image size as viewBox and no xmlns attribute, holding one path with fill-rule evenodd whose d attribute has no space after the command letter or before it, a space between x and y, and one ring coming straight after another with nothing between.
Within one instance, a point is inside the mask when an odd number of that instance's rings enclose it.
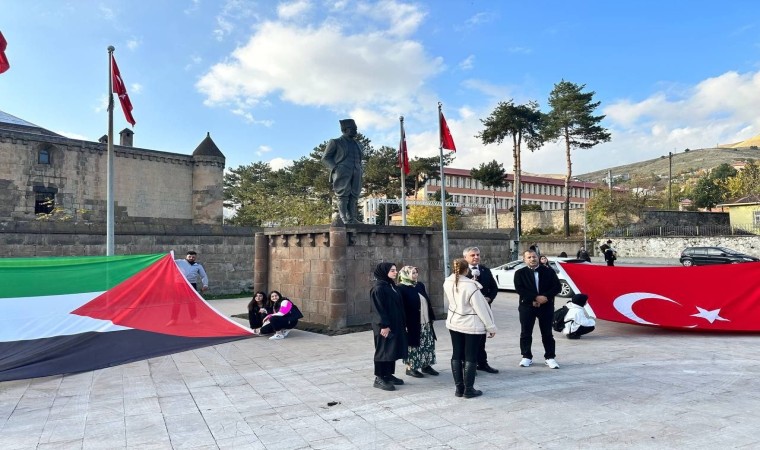
<instances>
[{"instance_id":1,"label":"reddish-brown stone block pedestal beneath the dark standing statue","mask_svg":"<svg viewBox=\"0 0 760 450\"><path fill-rule=\"evenodd\" d=\"M332 328L370 322L369 291L378 263L420 270L434 310L441 317L443 235L423 227L357 225L265 229L255 238L254 290L278 290L299 304L304 320ZM449 232L449 260L468 246L483 263L502 264L509 237L501 233ZM450 263L450 262L449 262Z\"/></svg>"}]
</instances>

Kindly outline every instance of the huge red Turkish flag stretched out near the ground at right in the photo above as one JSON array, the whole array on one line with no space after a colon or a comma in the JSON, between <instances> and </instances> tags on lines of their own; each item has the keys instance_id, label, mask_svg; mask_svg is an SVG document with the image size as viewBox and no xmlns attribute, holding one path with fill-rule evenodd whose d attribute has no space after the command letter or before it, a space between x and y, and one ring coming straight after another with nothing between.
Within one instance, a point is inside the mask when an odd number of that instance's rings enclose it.
<instances>
[{"instance_id":1,"label":"huge red Turkish flag stretched out near the ground at right","mask_svg":"<svg viewBox=\"0 0 760 450\"><path fill-rule=\"evenodd\" d=\"M600 319L699 331L760 331L760 262L700 267L562 264Z\"/></svg>"}]
</instances>

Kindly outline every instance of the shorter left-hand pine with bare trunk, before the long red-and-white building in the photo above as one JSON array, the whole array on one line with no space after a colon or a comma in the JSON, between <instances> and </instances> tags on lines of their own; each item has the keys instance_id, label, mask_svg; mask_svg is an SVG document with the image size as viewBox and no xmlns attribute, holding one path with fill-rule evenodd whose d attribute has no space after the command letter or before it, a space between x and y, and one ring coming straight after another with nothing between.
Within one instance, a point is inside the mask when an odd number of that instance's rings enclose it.
<instances>
[{"instance_id":1,"label":"shorter left-hand pine with bare trunk, before the long red-and-white building","mask_svg":"<svg viewBox=\"0 0 760 450\"><path fill-rule=\"evenodd\" d=\"M475 137L483 144L501 144L504 139L512 138L512 161L514 171L513 194L515 198L514 227L518 239L522 229L520 208L522 203L520 175L522 173L522 143L534 151L541 147L543 138L541 127L544 115L538 110L537 102L515 105L512 100L500 102L485 120L481 119L484 129Z\"/></svg>"}]
</instances>

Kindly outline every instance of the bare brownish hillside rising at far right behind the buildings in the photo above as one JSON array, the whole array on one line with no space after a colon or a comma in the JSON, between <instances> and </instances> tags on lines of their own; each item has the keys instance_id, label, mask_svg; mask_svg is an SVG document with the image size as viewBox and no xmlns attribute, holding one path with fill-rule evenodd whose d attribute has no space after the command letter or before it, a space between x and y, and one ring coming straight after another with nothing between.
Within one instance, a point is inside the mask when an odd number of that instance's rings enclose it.
<instances>
[{"instance_id":1,"label":"bare brownish hillside rising at far right behind the buildings","mask_svg":"<svg viewBox=\"0 0 760 450\"><path fill-rule=\"evenodd\" d=\"M694 173L700 169L712 169L723 163L731 164L736 161L760 159L760 150L750 148L701 148L690 151L682 151L673 154L673 179L684 173ZM655 183L667 184L668 180L668 156L650 159L623 166L610 167L609 169L597 170L579 174L579 179L603 183L607 177L607 171L616 175L628 174L631 178L652 177L655 175L660 181Z\"/></svg>"}]
</instances>

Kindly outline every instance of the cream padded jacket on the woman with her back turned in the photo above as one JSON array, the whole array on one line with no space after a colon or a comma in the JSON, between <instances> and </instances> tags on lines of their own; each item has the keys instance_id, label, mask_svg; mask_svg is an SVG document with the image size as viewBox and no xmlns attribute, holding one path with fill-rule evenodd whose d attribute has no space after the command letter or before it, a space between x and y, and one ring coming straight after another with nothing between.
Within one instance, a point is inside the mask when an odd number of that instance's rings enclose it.
<instances>
[{"instance_id":1,"label":"cream padded jacket on the woman with her back turned","mask_svg":"<svg viewBox=\"0 0 760 450\"><path fill-rule=\"evenodd\" d=\"M482 286L464 276L454 286L454 274L443 283L443 292L448 303L446 328L465 334L486 334L496 332L493 312L486 298L480 292Z\"/></svg>"}]
</instances>

